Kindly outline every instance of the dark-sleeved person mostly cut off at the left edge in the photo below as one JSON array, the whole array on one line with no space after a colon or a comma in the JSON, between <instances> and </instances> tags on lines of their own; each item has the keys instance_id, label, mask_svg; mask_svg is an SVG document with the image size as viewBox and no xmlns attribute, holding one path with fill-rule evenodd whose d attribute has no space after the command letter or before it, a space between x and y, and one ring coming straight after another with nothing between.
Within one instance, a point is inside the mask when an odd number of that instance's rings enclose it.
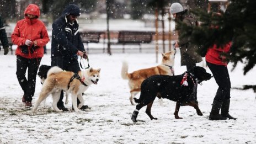
<instances>
[{"instance_id":1,"label":"dark-sleeved person mostly cut off at the left edge","mask_svg":"<svg viewBox=\"0 0 256 144\"><path fill-rule=\"evenodd\" d=\"M4 55L7 55L9 52L9 45L8 45L9 42L6 35L6 28L3 25L3 19L1 15L0 15L0 40L3 45ZM1 47L0 47L0 50L1 50Z\"/></svg>"}]
</instances>

